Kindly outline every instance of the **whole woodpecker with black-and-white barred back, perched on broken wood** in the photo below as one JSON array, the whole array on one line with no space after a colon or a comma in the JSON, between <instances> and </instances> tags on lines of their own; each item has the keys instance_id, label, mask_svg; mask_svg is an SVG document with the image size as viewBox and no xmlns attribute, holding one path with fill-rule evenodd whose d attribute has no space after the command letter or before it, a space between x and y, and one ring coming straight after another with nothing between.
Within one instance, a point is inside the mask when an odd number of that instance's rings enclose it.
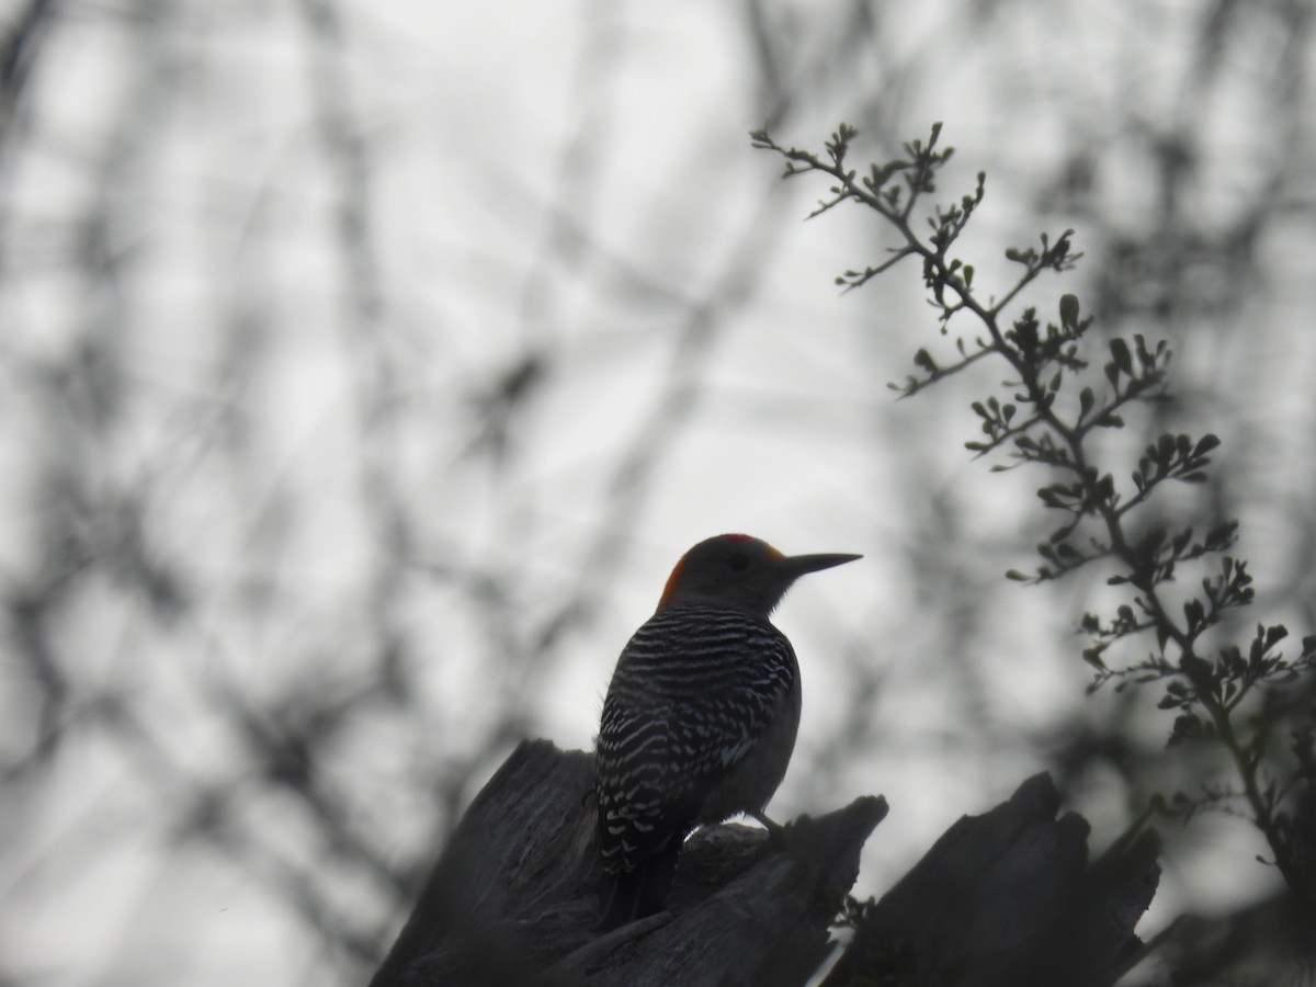
<instances>
[{"instance_id":1,"label":"whole woodpecker with black-and-white barred back, perched on broken wood","mask_svg":"<svg viewBox=\"0 0 1316 987\"><path fill-rule=\"evenodd\" d=\"M859 555L783 555L747 534L699 542L621 650L596 742L600 930L663 908L699 825L763 808L800 725L795 650L769 615L805 572Z\"/></svg>"}]
</instances>

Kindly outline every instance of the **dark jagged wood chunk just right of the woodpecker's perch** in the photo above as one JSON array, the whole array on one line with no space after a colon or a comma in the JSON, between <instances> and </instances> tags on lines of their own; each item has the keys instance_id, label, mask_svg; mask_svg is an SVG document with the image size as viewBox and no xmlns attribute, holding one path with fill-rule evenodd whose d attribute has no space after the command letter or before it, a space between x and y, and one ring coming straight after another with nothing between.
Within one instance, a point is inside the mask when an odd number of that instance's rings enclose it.
<instances>
[{"instance_id":1,"label":"dark jagged wood chunk just right of the woodpecker's perch","mask_svg":"<svg viewBox=\"0 0 1316 987\"><path fill-rule=\"evenodd\" d=\"M965 816L870 911L824 987L1105 987L1142 955L1133 934L1161 869L1152 830L1087 862L1087 821L1057 819L1042 774Z\"/></svg>"}]
</instances>

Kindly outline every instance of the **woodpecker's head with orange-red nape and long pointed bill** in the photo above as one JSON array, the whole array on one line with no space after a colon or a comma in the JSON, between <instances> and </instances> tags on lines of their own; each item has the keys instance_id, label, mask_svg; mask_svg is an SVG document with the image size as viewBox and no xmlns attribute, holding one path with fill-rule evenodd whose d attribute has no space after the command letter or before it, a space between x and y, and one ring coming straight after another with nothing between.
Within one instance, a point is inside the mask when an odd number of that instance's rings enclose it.
<instances>
[{"instance_id":1,"label":"woodpecker's head with orange-red nape and long pointed bill","mask_svg":"<svg viewBox=\"0 0 1316 987\"><path fill-rule=\"evenodd\" d=\"M747 534L707 538L684 555L667 578L658 609L674 603L721 603L765 617L782 601L791 583L861 555L783 555L766 541Z\"/></svg>"}]
</instances>

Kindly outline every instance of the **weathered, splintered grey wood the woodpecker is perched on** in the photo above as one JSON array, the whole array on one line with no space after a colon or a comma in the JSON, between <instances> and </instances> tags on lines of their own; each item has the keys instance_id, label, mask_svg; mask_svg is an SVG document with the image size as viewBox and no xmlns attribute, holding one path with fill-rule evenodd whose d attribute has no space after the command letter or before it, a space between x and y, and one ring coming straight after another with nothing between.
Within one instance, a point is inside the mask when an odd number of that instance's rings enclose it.
<instances>
[{"instance_id":1,"label":"weathered, splintered grey wood the woodpecker is perched on","mask_svg":"<svg viewBox=\"0 0 1316 987\"><path fill-rule=\"evenodd\" d=\"M803 983L886 815L858 799L783 846L709 826L682 851L669 912L592 930L600 873L594 758L525 742L471 804L372 987Z\"/></svg>"}]
</instances>

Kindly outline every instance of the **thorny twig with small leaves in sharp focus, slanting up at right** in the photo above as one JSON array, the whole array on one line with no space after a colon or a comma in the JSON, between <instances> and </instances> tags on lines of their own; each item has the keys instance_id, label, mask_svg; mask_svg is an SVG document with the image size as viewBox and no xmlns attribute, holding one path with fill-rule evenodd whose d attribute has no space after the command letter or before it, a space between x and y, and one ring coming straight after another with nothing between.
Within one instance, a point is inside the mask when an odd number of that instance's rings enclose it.
<instances>
[{"instance_id":1,"label":"thorny twig with small leaves in sharp focus, slanting up at right","mask_svg":"<svg viewBox=\"0 0 1316 987\"><path fill-rule=\"evenodd\" d=\"M1165 682L1161 708L1177 713L1169 744L1217 745L1233 766L1233 786L1211 782L1196 799L1162 799L1159 805L1178 807L1178 815L1188 817L1202 805L1241 800L1269 841L1274 863L1288 886L1311 900L1316 875L1303 871L1311 863L1300 863L1302 854L1294 849L1292 813L1286 809L1286 799L1299 786L1316 787L1316 715L1309 699L1316 637L1303 641L1296 658L1286 658L1279 650L1288 634L1279 624L1259 625L1245 649L1207 647L1207 636L1221 630L1225 613L1254 600L1246 562L1225 554L1237 541L1237 522L1213 520L1200 536L1195 525L1187 524L1178 530L1153 525L1134 534L1146 526L1142 508L1163 484L1208 479L1211 454L1220 447L1215 434L1161 434L1146 445L1136 465L1123 470L1099 463L1090 441L1095 430L1124 428L1129 405L1166 400L1169 346L1142 336L1111 338L1098 375L1087 355L1092 347L1084 338L1092 320L1082 317L1076 296L1063 295L1055 320L1045 325L1034 307L1007 316L1007 309L1013 309L1021 292L1038 278L1063 274L1082 258L1073 249L1074 232L1055 237L1044 233L1034 245L1007 249L1005 259L1023 270L999 297L984 297L975 283L974 265L953 253L983 201L984 175L978 175L971 192L928 207L930 232L919 233L912 220L916 205L936 192L938 172L951 158L951 149L938 147L941 126L933 126L926 142L907 142L901 155L870 164L862 178L848 163L855 136L854 128L841 125L826 142L824 155L784 149L762 130L753 139L755 147L786 158L787 176L819 172L832 180L830 197L820 201L811 216L850 201L878 213L895 230L896 243L887 247L886 259L845 271L837 278L840 286L858 288L900 261L917 258L941 334L949 336L949 324L961 313L978 326L971 337L954 338L950 357L917 350L916 372L891 386L900 396L912 396L982 359L1004 361L1005 393L970 404L982 436L966 446L978 455L1003 453L1007 462L994 470L1045 470L1048 480L1037 496L1059 519L1037 546L1041 563L1030 572L1011 570L1007 576L1044 583L1096 562L1109 570L1107 582L1129 595L1113 613L1088 613L1080 621L1079 629L1090 641L1082 657L1094 670L1090 691L1112 679L1117 680L1116 688ZM1177 583L1184 566L1207 567L1211 574L1200 578L1199 592L1187 599L1177 595L1173 603L1167 584ZM1113 644L1123 641L1136 647L1141 640L1153 642L1144 658L1107 665ZM1299 679L1305 691L1295 688ZM1275 744L1283 725L1288 728L1287 750ZM1311 904L1316 908L1316 901Z\"/></svg>"}]
</instances>

